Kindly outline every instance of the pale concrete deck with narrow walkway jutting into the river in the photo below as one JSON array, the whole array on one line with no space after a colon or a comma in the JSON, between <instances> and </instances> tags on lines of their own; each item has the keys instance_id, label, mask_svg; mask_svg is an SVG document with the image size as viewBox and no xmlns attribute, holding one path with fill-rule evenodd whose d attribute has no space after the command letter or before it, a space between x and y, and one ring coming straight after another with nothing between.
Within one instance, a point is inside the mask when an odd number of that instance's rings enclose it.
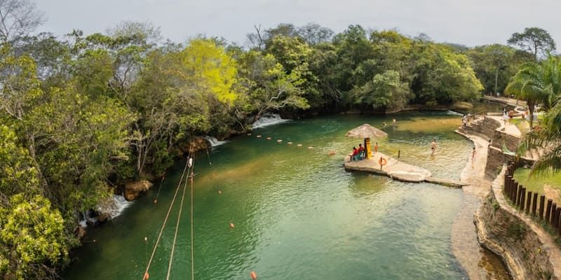
<instances>
[{"instance_id":1,"label":"pale concrete deck with narrow walkway jutting into the river","mask_svg":"<svg viewBox=\"0 0 561 280\"><path fill-rule=\"evenodd\" d=\"M388 160L388 164L385 165L382 169L380 169L380 165L378 163L380 157ZM461 188L462 186L468 185L468 183L464 183L461 181L433 178L431 176L431 172L427 169L410 165L405 162L400 162L395 158L390 158L387 155L384 155L383 153L376 153L369 160L360 160L355 162L351 162L350 157L347 156L345 158L345 169L371 172L378 175L388 176L391 179L404 182L428 182L455 188Z\"/></svg>"}]
</instances>

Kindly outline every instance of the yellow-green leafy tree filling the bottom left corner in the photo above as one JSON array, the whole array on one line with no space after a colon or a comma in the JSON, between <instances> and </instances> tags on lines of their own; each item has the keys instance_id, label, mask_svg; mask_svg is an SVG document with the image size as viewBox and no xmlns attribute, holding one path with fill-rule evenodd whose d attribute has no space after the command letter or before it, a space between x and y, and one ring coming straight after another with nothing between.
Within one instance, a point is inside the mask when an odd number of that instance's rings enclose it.
<instances>
[{"instance_id":1,"label":"yellow-green leafy tree filling the bottom left corner","mask_svg":"<svg viewBox=\"0 0 561 280\"><path fill-rule=\"evenodd\" d=\"M4 279L55 279L68 256L64 220L41 195L18 194L0 206L0 275Z\"/></svg>"}]
</instances>

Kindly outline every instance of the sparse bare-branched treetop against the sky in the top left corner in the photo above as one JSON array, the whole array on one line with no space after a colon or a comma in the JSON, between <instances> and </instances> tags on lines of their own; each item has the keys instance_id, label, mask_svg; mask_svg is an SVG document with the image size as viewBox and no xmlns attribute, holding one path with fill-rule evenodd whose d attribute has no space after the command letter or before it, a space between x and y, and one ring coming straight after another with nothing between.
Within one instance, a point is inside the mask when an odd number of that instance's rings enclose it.
<instances>
[{"instance_id":1,"label":"sparse bare-branched treetop against the sky in the top left corner","mask_svg":"<svg viewBox=\"0 0 561 280\"><path fill-rule=\"evenodd\" d=\"M26 36L44 21L30 0L0 0L0 43Z\"/></svg>"}]
</instances>

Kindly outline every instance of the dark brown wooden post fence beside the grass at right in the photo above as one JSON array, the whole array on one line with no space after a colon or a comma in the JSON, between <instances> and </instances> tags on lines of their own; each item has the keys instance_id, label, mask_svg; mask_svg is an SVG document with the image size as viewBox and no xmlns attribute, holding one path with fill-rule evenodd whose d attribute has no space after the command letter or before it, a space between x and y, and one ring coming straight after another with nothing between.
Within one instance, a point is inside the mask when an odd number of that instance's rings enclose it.
<instances>
[{"instance_id":1,"label":"dark brown wooden post fence beside the grass at right","mask_svg":"<svg viewBox=\"0 0 561 280\"><path fill-rule=\"evenodd\" d=\"M548 223L557 235L561 235L561 205L555 204L545 195L526 191L526 188L514 179L514 171L520 163L509 161L504 174L504 195L511 200L514 207L539 221Z\"/></svg>"}]
</instances>

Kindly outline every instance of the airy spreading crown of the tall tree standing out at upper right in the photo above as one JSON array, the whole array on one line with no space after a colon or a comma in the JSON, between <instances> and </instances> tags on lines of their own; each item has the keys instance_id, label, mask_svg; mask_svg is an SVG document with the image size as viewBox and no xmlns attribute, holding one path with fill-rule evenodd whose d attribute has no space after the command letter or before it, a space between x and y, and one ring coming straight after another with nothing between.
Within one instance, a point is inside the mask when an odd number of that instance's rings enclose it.
<instances>
[{"instance_id":1,"label":"airy spreading crown of the tall tree standing out at upper right","mask_svg":"<svg viewBox=\"0 0 561 280\"><path fill-rule=\"evenodd\" d=\"M547 55L548 52L555 50L555 41L551 38L548 31L538 27L527 27L524 32L515 32L508 39L509 45L517 45L522 50L534 55L534 60L538 55Z\"/></svg>"}]
</instances>

